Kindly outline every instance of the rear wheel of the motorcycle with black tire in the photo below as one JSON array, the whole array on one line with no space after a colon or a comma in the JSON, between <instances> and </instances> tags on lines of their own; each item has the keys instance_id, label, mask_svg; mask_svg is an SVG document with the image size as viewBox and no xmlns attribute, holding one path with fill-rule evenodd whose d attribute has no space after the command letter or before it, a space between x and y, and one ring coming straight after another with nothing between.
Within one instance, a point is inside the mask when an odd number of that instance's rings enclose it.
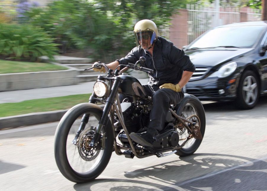
<instances>
[{"instance_id":1,"label":"rear wheel of the motorcycle with black tire","mask_svg":"<svg viewBox=\"0 0 267 191\"><path fill-rule=\"evenodd\" d=\"M187 118L190 115L197 115L199 117L199 127L202 138L204 137L205 127L206 127L206 117L205 111L200 100L194 95L190 95L189 101L182 108L182 117ZM186 138L188 136L188 131L184 128L183 130L177 130L179 134L179 138ZM179 145L183 143L184 140L179 141ZM185 144L184 147L177 150L175 154L178 156L189 156L192 155L195 151L197 151L200 146L202 140L200 139L189 139L189 141Z\"/></svg>"}]
</instances>

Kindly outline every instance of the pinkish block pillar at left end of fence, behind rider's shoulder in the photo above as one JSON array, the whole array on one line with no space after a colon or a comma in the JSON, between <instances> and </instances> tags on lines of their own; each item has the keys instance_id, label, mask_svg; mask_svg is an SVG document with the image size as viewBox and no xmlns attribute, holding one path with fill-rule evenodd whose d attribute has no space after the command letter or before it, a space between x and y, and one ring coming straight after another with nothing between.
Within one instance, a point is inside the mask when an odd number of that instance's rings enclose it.
<instances>
[{"instance_id":1,"label":"pinkish block pillar at left end of fence, behind rider's shoulder","mask_svg":"<svg viewBox=\"0 0 267 191\"><path fill-rule=\"evenodd\" d=\"M174 14L171 17L171 26L170 26L170 41L177 48L182 48L187 44L187 31L188 31L188 10L179 9L178 14Z\"/></svg>"}]
</instances>

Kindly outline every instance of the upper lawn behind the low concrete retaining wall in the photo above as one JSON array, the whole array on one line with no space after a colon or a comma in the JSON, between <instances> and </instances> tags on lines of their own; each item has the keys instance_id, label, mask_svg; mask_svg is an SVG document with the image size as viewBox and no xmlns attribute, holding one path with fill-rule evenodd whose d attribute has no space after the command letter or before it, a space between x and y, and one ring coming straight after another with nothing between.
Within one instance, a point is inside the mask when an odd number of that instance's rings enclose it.
<instances>
[{"instance_id":1,"label":"upper lawn behind the low concrete retaining wall","mask_svg":"<svg viewBox=\"0 0 267 191\"><path fill-rule=\"evenodd\" d=\"M67 69L68 68L64 66L57 66L51 63L0 60L0 74L55 71L55 70L67 70Z\"/></svg>"}]
</instances>

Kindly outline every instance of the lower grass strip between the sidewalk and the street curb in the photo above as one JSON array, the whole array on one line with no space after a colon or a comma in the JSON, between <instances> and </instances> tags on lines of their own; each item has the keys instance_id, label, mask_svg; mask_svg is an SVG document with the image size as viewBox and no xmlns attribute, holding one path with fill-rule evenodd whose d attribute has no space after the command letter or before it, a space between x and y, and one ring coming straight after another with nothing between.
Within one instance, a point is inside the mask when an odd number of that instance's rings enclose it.
<instances>
[{"instance_id":1,"label":"lower grass strip between the sidewalk and the street curb","mask_svg":"<svg viewBox=\"0 0 267 191\"><path fill-rule=\"evenodd\" d=\"M63 97L32 99L18 103L0 104L0 117L34 112L65 110L79 103L87 103L91 94L78 94Z\"/></svg>"}]
</instances>

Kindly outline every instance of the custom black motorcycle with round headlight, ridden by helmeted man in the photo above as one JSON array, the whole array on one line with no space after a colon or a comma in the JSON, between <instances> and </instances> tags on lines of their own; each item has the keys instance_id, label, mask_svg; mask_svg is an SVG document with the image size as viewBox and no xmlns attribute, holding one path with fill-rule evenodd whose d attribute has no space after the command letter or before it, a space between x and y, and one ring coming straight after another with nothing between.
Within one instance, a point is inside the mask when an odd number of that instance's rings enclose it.
<instances>
[{"instance_id":1,"label":"custom black motorcycle with round headlight, ridden by helmeted man","mask_svg":"<svg viewBox=\"0 0 267 191\"><path fill-rule=\"evenodd\" d=\"M144 57L127 68L153 70L137 66ZM82 183L98 177L111 154L132 159L176 154L188 156L200 146L205 132L205 112L197 97L185 94L178 105L170 105L165 128L153 147L131 140L131 132L144 132L149 125L153 104L140 82L118 67L112 71L104 63L107 75L99 75L89 103L75 105L60 120L54 139L54 155L59 171L70 181ZM87 68L89 70L92 68ZM121 99L125 97L125 99Z\"/></svg>"}]
</instances>

